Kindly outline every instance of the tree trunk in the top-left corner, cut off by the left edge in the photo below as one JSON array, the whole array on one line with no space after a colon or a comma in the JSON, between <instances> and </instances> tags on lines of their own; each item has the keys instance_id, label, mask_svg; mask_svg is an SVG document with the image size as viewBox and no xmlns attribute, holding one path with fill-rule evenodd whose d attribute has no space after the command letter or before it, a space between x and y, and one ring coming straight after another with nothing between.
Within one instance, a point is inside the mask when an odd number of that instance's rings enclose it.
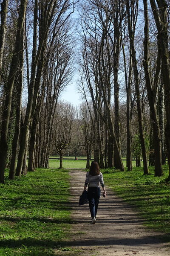
<instances>
[{"instance_id":1,"label":"tree trunk in the top-left corner, cut off by the left edge","mask_svg":"<svg viewBox=\"0 0 170 256\"><path fill-rule=\"evenodd\" d=\"M6 17L7 17L7 9L8 9L8 0L3 0L0 11L0 81L2 76L2 61L3 61L3 49L4 49L4 41L6 34Z\"/></svg>"}]
</instances>

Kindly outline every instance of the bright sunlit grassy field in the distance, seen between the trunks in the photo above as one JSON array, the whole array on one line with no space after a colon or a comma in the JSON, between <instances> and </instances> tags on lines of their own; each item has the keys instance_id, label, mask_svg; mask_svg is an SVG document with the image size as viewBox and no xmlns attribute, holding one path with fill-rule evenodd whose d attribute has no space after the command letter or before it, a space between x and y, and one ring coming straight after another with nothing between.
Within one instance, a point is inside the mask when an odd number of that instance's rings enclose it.
<instances>
[{"instance_id":1,"label":"bright sunlit grassy field in the distance, seen between the trunks","mask_svg":"<svg viewBox=\"0 0 170 256\"><path fill-rule=\"evenodd\" d=\"M126 166L126 161L123 160L124 166ZM136 162L132 161L132 165L135 166ZM141 161L141 166L143 166L143 162ZM83 169L86 167L86 160L81 160L78 158L78 160L63 160L63 168L75 168L75 169ZM59 160L56 158L56 160L49 160L49 168L59 168Z\"/></svg>"}]
</instances>

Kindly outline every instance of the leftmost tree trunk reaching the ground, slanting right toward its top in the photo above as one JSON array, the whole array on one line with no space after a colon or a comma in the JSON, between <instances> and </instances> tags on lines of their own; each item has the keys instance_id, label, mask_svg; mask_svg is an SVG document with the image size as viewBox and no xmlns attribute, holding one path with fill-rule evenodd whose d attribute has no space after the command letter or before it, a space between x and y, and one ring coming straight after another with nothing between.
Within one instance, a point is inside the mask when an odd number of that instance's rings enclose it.
<instances>
[{"instance_id":1,"label":"leftmost tree trunk reaching the ground, slanting right toward its top","mask_svg":"<svg viewBox=\"0 0 170 256\"><path fill-rule=\"evenodd\" d=\"M17 71L18 64L18 55L20 54L21 44L24 33L24 21L26 16L26 6L27 0L21 0L18 24L17 24L17 35L15 40L14 54L11 61L11 67L9 71L8 81L6 84L5 92L5 103L2 116L1 124L1 137L0 137L0 183L4 183L4 172L6 164L6 154L7 154L7 137L8 137L8 124L11 111L11 99L12 99L12 90L14 86L14 79Z\"/></svg>"}]
</instances>

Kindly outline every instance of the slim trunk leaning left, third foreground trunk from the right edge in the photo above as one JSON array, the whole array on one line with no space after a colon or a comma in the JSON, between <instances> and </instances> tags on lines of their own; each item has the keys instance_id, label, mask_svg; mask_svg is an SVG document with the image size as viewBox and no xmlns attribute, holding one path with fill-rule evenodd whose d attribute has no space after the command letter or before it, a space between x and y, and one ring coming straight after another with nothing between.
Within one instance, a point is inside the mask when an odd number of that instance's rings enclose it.
<instances>
[{"instance_id":1,"label":"slim trunk leaning left, third foreground trunk from the right edge","mask_svg":"<svg viewBox=\"0 0 170 256\"><path fill-rule=\"evenodd\" d=\"M126 0L126 4L127 4L127 20L128 20L130 48L132 50L133 73L134 73L134 78L135 78L136 102L137 102L138 122L139 122L139 137L140 137L140 143L141 143L141 148L142 148L144 175L148 175L149 170L148 170L148 166L147 166L147 154L146 154L146 147L145 147L145 142L144 142L142 108L141 108L140 91L139 91L139 77L138 77L139 73L138 73L137 61L136 61L136 51L135 51L135 47L134 47L134 36L132 33L131 22L130 22L129 0Z\"/></svg>"}]
</instances>

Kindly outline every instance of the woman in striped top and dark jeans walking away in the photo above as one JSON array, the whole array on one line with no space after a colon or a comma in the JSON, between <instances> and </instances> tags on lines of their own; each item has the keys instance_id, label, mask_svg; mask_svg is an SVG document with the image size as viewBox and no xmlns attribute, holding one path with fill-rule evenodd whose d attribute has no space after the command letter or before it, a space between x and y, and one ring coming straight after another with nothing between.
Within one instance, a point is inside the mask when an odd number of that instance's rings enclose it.
<instances>
[{"instance_id":1,"label":"woman in striped top and dark jeans walking away","mask_svg":"<svg viewBox=\"0 0 170 256\"><path fill-rule=\"evenodd\" d=\"M100 172L99 164L97 162L91 162L90 171L86 174L84 186L85 191L88 185L88 202L92 218L91 224L95 224L96 222L96 214L101 192L99 183L103 189L103 196L106 197L105 184L103 181L103 175Z\"/></svg>"}]
</instances>

